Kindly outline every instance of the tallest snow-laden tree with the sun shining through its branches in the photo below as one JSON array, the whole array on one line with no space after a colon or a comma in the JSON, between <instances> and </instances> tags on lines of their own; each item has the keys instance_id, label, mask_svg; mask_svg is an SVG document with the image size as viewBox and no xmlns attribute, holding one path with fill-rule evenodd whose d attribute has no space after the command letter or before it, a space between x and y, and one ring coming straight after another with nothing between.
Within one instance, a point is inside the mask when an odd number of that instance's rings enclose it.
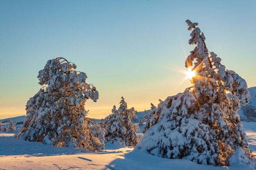
<instances>
[{"instance_id":1,"label":"tallest snow-laden tree with the sun shining through its branches","mask_svg":"<svg viewBox=\"0 0 256 170\"><path fill-rule=\"evenodd\" d=\"M229 165L234 152L242 148L254 164L237 114L240 104L247 104L250 98L247 83L208 51L198 23L186 23L192 30L189 44L196 45L185 63L196 71L193 86L151 108L135 151L220 166Z\"/></svg>"}]
</instances>

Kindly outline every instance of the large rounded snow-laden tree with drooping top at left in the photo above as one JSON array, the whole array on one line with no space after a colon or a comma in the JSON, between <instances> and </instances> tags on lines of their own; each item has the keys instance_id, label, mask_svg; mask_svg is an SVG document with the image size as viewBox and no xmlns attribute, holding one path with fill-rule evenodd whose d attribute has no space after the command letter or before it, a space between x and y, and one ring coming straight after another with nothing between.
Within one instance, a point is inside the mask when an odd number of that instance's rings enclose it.
<instances>
[{"instance_id":1,"label":"large rounded snow-laden tree with drooping top at left","mask_svg":"<svg viewBox=\"0 0 256 170\"><path fill-rule=\"evenodd\" d=\"M27 117L16 137L53 146L74 146L87 150L103 148L100 127L87 120L87 99L94 102L99 93L86 83L86 74L75 71L76 65L64 58L49 60L39 71L43 86L26 105ZM96 132L96 131L97 132Z\"/></svg>"}]
</instances>

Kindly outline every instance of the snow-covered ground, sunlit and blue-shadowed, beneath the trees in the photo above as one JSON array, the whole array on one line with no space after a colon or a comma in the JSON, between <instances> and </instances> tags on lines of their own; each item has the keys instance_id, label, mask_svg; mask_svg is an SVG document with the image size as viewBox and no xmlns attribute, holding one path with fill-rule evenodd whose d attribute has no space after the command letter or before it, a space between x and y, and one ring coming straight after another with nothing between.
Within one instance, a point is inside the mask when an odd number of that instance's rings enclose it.
<instances>
[{"instance_id":1,"label":"snow-covered ground, sunlit and blue-shadowed, beneath the trees","mask_svg":"<svg viewBox=\"0 0 256 170\"><path fill-rule=\"evenodd\" d=\"M243 121L243 127L249 138L249 148L256 150L256 122ZM215 167L182 159L164 159L117 144L106 144L105 149L97 153L55 148L13 138L17 132L0 132L0 170L252 170L242 163Z\"/></svg>"}]
</instances>

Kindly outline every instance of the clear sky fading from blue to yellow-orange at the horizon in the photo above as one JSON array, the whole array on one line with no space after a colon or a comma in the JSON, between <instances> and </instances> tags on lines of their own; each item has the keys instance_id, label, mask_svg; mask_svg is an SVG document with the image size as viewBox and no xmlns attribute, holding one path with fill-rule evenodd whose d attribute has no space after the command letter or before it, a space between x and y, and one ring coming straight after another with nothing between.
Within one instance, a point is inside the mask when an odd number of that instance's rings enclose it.
<instances>
[{"instance_id":1,"label":"clear sky fading from blue to yellow-orange at the horizon","mask_svg":"<svg viewBox=\"0 0 256 170\"><path fill-rule=\"evenodd\" d=\"M88 117L104 118L123 96L150 109L191 86L185 59L198 22L209 51L256 86L256 0L0 0L0 119L26 115L38 71L64 57L99 91Z\"/></svg>"}]
</instances>

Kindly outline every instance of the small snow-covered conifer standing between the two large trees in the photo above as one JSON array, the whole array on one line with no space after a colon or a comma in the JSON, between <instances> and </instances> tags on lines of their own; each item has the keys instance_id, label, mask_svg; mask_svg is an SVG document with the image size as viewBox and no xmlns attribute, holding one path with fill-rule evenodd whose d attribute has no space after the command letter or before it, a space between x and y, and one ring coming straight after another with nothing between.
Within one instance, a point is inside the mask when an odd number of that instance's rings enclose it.
<instances>
[{"instance_id":1,"label":"small snow-covered conifer standing between the two large trees","mask_svg":"<svg viewBox=\"0 0 256 170\"><path fill-rule=\"evenodd\" d=\"M132 124L132 117L136 118L134 108L128 109L124 97L121 97L119 108L113 106L112 114L101 121L101 127L105 128L105 142L135 146L139 142L136 135L139 127Z\"/></svg>"}]
</instances>

